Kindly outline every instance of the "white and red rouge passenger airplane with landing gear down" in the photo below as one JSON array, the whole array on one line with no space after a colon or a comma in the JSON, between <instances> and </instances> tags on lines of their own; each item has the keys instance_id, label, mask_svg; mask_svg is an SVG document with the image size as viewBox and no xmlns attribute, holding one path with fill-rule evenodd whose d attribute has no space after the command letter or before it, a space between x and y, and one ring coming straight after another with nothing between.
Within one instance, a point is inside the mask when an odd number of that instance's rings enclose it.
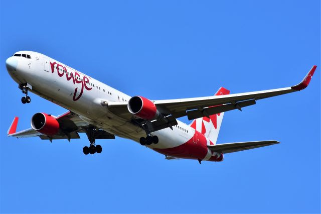
<instances>
[{"instance_id":1,"label":"white and red rouge passenger airplane with landing gear down","mask_svg":"<svg viewBox=\"0 0 321 214\"><path fill-rule=\"evenodd\" d=\"M312 66L303 80L290 87L230 94L224 87L213 96L150 100L143 96L129 96L80 71L44 54L19 51L6 60L10 76L25 94L22 103L30 103L31 91L68 112L53 116L36 113L31 128L17 132L18 117L9 130L9 137L40 137L52 142L56 139L79 139L85 133L89 146L85 155L101 153L98 139L131 139L166 159L194 159L223 161L224 154L273 144L276 140L216 144L224 113L253 105L256 100L300 91L306 88L316 66ZM186 117L190 125L177 120Z\"/></svg>"}]
</instances>

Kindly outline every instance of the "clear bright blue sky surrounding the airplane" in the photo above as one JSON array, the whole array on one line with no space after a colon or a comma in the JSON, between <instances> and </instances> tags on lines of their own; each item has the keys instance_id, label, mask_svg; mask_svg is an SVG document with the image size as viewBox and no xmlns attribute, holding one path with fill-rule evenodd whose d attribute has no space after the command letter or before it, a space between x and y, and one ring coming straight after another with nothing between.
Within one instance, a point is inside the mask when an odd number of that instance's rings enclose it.
<instances>
[{"instance_id":1,"label":"clear bright blue sky surrounding the airplane","mask_svg":"<svg viewBox=\"0 0 321 214\"><path fill-rule=\"evenodd\" d=\"M320 212L319 1L1 1L0 30L1 212ZM7 138L15 116L21 130L66 111L35 94L21 103L5 66L19 50L150 99L286 87L319 67L305 90L225 114L218 143L281 144L199 165L121 138L89 156L84 135Z\"/></svg>"}]
</instances>

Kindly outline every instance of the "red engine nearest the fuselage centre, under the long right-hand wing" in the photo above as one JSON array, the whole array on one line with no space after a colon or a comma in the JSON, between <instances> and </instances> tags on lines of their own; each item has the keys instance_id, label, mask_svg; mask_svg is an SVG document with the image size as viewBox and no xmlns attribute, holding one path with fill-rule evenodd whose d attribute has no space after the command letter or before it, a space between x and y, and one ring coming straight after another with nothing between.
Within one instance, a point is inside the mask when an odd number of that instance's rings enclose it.
<instances>
[{"instance_id":1,"label":"red engine nearest the fuselage centre, under the long right-hand wing","mask_svg":"<svg viewBox=\"0 0 321 214\"><path fill-rule=\"evenodd\" d=\"M144 120L156 119L159 116L156 105L142 96L131 97L127 108L131 114Z\"/></svg>"}]
</instances>

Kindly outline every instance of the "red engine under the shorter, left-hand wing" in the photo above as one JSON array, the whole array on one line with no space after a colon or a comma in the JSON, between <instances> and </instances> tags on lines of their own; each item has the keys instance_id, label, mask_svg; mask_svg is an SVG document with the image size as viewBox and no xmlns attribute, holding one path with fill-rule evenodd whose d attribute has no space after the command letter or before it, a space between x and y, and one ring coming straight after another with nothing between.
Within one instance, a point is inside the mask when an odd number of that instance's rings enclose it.
<instances>
[{"instance_id":1,"label":"red engine under the shorter, left-hand wing","mask_svg":"<svg viewBox=\"0 0 321 214\"><path fill-rule=\"evenodd\" d=\"M59 123L56 118L45 113L37 113L31 119L31 127L47 136L56 135L59 131Z\"/></svg>"}]
</instances>

